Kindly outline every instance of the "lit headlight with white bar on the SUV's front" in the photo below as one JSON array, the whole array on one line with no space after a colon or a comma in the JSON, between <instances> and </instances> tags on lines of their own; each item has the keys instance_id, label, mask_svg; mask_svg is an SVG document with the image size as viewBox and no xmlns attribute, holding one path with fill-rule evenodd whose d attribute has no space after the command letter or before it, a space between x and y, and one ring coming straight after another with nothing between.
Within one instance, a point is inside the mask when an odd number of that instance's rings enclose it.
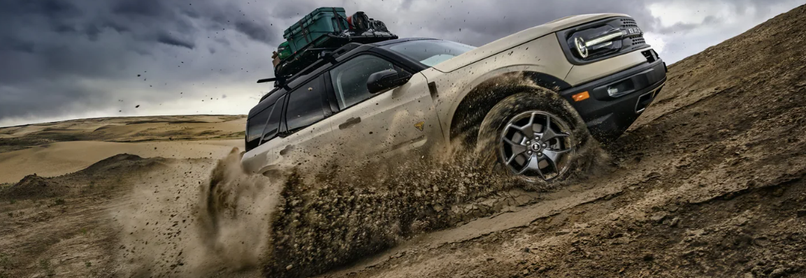
<instances>
[{"instance_id":1,"label":"lit headlight with white bar on the SUV's front","mask_svg":"<svg viewBox=\"0 0 806 278\"><path fill-rule=\"evenodd\" d=\"M574 46L580 58L593 59L621 50L624 36L623 31L605 26L575 32L568 44Z\"/></svg>"}]
</instances>

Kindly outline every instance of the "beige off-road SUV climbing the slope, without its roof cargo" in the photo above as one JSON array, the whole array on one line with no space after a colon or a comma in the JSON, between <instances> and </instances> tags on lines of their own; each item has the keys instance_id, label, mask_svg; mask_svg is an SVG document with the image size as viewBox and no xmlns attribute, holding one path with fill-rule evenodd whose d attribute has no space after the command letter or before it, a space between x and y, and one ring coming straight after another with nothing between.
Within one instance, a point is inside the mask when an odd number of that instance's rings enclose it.
<instances>
[{"instance_id":1,"label":"beige off-road SUV climbing the slope, without its roof cargo","mask_svg":"<svg viewBox=\"0 0 806 278\"><path fill-rule=\"evenodd\" d=\"M626 14L560 18L481 47L348 43L251 109L242 165L264 174L321 158L322 149L352 160L478 149L491 169L562 179L589 137L625 132L666 73Z\"/></svg>"}]
</instances>

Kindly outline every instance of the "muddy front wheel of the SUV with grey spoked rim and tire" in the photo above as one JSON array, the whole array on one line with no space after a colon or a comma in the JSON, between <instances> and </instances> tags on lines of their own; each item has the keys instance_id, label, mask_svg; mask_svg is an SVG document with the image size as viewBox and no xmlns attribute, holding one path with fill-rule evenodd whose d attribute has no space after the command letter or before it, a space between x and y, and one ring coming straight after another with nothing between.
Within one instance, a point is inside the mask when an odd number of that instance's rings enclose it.
<instances>
[{"instance_id":1,"label":"muddy front wheel of the SUV with grey spoked rim and tire","mask_svg":"<svg viewBox=\"0 0 806 278\"><path fill-rule=\"evenodd\" d=\"M480 124L478 165L536 187L567 180L591 159L590 133L579 114L544 88L506 97Z\"/></svg>"}]
</instances>

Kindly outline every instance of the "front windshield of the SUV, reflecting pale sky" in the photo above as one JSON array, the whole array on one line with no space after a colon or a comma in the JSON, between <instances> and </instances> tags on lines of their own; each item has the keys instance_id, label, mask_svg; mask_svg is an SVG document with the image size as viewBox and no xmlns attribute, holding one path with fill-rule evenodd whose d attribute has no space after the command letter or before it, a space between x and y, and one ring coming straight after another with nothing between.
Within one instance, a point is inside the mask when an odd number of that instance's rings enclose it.
<instances>
[{"instance_id":1,"label":"front windshield of the SUV, reflecting pale sky","mask_svg":"<svg viewBox=\"0 0 806 278\"><path fill-rule=\"evenodd\" d=\"M390 44L384 46L384 48L400 52L402 55L416 59L426 66L434 67L438 63L462 55L462 53L471 51L476 47L441 39L422 39Z\"/></svg>"}]
</instances>

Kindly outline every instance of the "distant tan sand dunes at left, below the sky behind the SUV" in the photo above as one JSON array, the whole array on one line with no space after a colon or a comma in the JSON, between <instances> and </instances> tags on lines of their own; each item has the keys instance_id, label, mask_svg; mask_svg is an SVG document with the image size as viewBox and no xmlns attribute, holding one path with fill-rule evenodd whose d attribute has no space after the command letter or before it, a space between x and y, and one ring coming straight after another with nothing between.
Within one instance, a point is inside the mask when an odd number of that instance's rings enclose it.
<instances>
[{"instance_id":1,"label":"distant tan sand dunes at left, below the sky behind the SUV","mask_svg":"<svg viewBox=\"0 0 806 278\"><path fill-rule=\"evenodd\" d=\"M112 117L0 129L0 183L51 177L118 153L140 157L223 157L243 149L246 119L235 115Z\"/></svg>"}]
</instances>

